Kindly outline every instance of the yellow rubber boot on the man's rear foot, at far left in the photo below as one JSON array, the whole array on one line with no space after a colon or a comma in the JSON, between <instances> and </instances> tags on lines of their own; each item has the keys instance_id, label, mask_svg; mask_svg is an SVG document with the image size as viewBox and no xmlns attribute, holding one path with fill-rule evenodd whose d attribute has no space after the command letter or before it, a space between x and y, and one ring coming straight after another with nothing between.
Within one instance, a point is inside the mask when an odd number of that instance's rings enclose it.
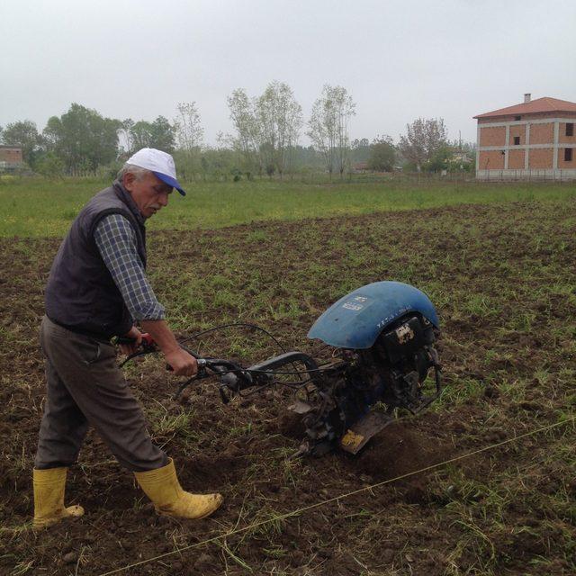
<instances>
[{"instance_id":1,"label":"yellow rubber boot on the man's rear foot, at far left","mask_svg":"<svg viewBox=\"0 0 576 576\"><path fill-rule=\"evenodd\" d=\"M81 506L64 506L67 468L34 469L34 527L44 528L64 518L79 518Z\"/></svg>"}]
</instances>

